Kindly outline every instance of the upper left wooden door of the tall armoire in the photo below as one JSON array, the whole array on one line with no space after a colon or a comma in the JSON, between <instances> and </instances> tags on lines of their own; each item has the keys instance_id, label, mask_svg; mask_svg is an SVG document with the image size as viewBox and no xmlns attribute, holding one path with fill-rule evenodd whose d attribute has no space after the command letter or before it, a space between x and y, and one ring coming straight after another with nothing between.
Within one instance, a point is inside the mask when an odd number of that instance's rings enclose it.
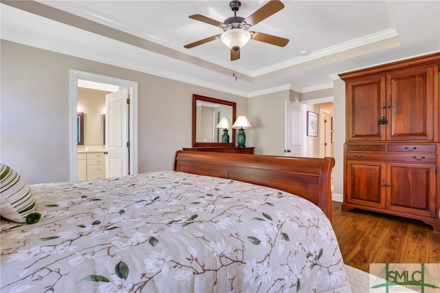
<instances>
[{"instance_id":1,"label":"upper left wooden door of the tall armoire","mask_svg":"<svg viewBox=\"0 0 440 293\"><path fill-rule=\"evenodd\" d=\"M385 140L386 78L362 79L347 84L347 141Z\"/></svg>"}]
</instances>

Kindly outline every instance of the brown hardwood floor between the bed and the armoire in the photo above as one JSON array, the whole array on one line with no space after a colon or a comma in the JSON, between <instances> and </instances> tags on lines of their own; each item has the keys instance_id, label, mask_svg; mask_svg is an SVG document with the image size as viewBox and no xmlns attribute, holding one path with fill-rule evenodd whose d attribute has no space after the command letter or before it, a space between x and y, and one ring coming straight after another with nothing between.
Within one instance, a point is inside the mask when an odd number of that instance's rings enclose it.
<instances>
[{"instance_id":1,"label":"brown hardwood floor between the bed and the armoire","mask_svg":"<svg viewBox=\"0 0 440 293\"><path fill-rule=\"evenodd\" d=\"M440 233L422 221L333 202L333 229L344 263L369 272L370 263L440 263Z\"/></svg>"}]
</instances>

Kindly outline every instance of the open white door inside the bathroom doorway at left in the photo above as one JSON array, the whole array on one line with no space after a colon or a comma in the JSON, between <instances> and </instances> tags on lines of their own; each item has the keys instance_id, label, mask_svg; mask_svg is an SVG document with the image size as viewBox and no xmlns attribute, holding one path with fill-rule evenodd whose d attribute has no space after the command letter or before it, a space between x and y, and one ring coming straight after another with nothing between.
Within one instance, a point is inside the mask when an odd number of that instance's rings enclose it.
<instances>
[{"instance_id":1,"label":"open white door inside the bathroom doorway at left","mask_svg":"<svg viewBox=\"0 0 440 293\"><path fill-rule=\"evenodd\" d=\"M129 90L107 94L105 99L106 177L129 174Z\"/></svg>"}]
</instances>

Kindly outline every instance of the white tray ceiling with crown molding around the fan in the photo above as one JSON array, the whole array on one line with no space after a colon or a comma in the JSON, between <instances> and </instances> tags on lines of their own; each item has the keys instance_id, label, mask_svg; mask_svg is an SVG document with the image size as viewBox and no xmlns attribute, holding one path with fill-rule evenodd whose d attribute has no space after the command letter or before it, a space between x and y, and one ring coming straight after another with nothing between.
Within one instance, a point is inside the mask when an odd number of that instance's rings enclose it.
<instances>
[{"instance_id":1,"label":"white tray ceiling with crown molding around the fan","mask_svg":"<svg viewBox=\"0 0 440 293\"><path fill-rule=\"evenodd\" d=\"M220 40L183 47L221 34L188 16L223 22L233 16L227 0L1 2L1 39L248 97L328 88L341 72L440 50L438 0L284 0L283 10L251 30L289 43L250 40L234 80L229 48ZM241 3L237 15L248 17L267 0Z\"/></svg>"}]
</instances>

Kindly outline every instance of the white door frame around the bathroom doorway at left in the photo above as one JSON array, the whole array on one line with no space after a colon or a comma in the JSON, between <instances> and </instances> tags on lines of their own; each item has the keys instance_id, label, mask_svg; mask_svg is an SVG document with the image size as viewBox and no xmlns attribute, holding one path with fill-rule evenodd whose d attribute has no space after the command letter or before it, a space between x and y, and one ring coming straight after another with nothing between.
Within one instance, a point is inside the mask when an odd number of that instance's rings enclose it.
<instances>
[{"instance_id":1,"label":"white door frame around the bathroom doorway at left","mask_svg":"<svg viewBox=\"0 0 440 293\"><path fill-rule=\"evenodd\" d=\"M129 105L129 174L137 174L137 82L132 80L124 80L111 76L103 76L90 72L82 72L76 69L70 69L70 85L69 85L69 129L70 129L70 181L78 180L78 153L76 142L76 116L78 105L78 79L95 81L98 83L107 83L110 85L118 85L120 87L128 87L130 93Z\"/></svg>"}]
</instances>

